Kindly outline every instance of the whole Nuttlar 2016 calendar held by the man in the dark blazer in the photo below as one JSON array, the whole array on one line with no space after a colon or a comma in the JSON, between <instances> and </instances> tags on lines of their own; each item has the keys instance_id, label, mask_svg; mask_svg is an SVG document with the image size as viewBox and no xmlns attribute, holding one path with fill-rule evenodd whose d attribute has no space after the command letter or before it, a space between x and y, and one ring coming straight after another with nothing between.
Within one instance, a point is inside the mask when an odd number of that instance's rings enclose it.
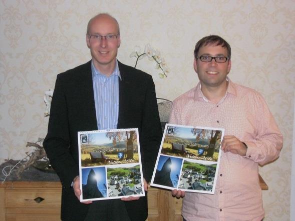
<instances>
[{"instance_id":1,"label":"whole Nuttlar 2016 calendar held by the man in the dark blazer","mask_svg":"<svg viewBox=\"0 0 295 221\"><path fill-rule=\"evenodd\" d=\"M144 196L138 128L78 132L80 201Z\"/></svg>"}]
</instances>

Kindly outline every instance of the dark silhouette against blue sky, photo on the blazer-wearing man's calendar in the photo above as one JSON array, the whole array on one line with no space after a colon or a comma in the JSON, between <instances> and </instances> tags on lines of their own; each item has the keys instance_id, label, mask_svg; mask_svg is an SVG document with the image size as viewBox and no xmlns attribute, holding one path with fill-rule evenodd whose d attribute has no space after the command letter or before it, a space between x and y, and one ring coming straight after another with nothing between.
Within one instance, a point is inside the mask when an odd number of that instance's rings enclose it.
<instances>
[{"instance_id":1,"label":"dark silhouette against blue sky, photo on the blazer-wearing man's calendar","mask_svg":"<svg viewBox=\"0 0 295 221\"><path fill-rule=\"evenodd\" d=\"M107 197L106 168L82 168L83 200Z\"/></svg>"}]
</instances>

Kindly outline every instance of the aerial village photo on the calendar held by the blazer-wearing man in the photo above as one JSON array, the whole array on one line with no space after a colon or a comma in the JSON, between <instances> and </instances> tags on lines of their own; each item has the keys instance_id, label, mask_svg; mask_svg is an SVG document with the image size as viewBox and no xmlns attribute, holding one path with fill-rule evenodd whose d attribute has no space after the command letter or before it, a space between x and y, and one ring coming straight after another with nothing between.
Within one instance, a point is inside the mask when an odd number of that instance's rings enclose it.
<instances>
[{"instance_id":1,"label":"aerial village photo on the calendar held by the blazer-wearing man","mask_svg":"<svg viewBox=\"0 0 295 221\"><path fill-rule=\"evenodd\" d=\"M143 194L140 166L122 165L107 168L108 196Z\"/></svg>"}]
</instances>

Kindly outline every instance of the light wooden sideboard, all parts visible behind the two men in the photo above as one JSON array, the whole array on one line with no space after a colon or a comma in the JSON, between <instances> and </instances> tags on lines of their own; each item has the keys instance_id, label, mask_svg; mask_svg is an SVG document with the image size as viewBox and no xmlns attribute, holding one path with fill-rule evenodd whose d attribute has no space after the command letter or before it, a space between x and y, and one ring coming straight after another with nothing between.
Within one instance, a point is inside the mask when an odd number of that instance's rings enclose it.
<instances>
[{"instance_id":1,"label":"light wooden sideboard, all parts visible behind the two men","mask_svg":"<svg viewBox=\"0 0 295 221\"><path fill-rule=\"evenodd\" d=\"M259 175L260 186L268 189ZM0 221L60 220L59 181L6 181L0 184ZM170 190L149 187L148 221L182 220L182 199Z\"/></svg>"}]
</instances>

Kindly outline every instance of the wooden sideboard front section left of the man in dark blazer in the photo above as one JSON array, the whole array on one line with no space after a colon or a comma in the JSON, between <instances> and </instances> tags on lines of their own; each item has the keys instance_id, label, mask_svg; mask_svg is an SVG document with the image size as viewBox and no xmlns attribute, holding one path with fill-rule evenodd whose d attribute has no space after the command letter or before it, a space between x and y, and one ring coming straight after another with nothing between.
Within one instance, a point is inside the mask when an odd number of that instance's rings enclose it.
<instances>
[{"instance_id":1,"label":"wooden sideboard front section left of the man in dark blazer","mask_svg":"<svg viewBox=\"0 0 295 221\"><path fill-rule=\"evenodd\" d=\"M0 220L60 220L60 182L7 181L0 185Z\"/></svg>"}]
</instances>

